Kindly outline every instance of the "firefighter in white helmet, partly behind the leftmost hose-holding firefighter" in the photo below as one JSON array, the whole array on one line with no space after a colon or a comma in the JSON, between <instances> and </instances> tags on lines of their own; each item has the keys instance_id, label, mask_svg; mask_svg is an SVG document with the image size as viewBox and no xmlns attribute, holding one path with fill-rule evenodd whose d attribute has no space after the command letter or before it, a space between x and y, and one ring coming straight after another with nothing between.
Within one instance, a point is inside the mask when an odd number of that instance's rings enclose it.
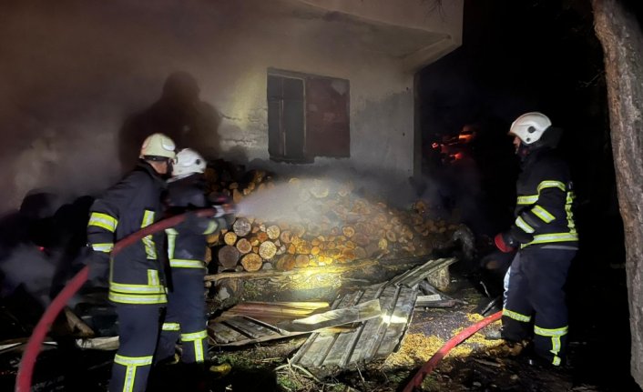
<instances>
[{"instance_id":1,"label":"firefighter in white helmet, partly behind the leftmost hose-holding firefighter","mask_svg":"<svg viewBox=\"0 0 643 392\"><path fill-rule=\"evenodd\" d=\"M203 172L206 162L194 150L179 151L168 180L168 213L184 214L210 206ZM189 216L185 223L166 230L170 275L168 310L158 342L158 361L173 362L175 343L182 343L181 361L202 364L208 354L203 277L206 273L206 237L227 226L222 217Z\"/></svg>"}]
</instances>

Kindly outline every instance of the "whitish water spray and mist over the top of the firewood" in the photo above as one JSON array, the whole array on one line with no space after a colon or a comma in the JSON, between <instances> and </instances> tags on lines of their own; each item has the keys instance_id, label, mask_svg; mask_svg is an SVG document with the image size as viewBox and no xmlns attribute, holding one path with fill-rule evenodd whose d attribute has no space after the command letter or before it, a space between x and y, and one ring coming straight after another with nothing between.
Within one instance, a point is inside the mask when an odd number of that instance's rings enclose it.
<instances>
[{"instance_id":1,"label":"whitish water spray and mist over the top of the firewood","mask_svg":"<svg viewBox=\"0 0 643 392\"><path fill-rule=\"evenodd\" d=\"M444 195L430 177L397 180L394 173L358 170L351 166L291 166L253 161L252 165L277 173L283 180L273 187L255 191L244 197L239 205L240 216L251 216L265 222L325 222L332 226L344 223L323 206L325 200L342 199L344 205L359 200L368 210L383 203L388 208L409 210L413 203L423 200L435 218L447 217ZM331 202L332 203L332 202ZM322 207L323 206L323 207Z\"/></svg>"}]
</instances>

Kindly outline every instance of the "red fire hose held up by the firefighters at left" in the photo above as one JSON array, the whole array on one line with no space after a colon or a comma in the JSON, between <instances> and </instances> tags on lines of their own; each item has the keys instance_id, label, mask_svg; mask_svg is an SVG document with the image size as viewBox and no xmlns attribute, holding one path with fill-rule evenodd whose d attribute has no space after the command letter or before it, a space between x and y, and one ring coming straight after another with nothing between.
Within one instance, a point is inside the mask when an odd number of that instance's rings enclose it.
<instances>
[{"instance_id":1,"label":"red fire hose held up by the firefighters at left","mask_svg":"<svg viewBox=\"0 0 643 392\"><path fill-rule=\"evenodd\" d=\"M197 216L214 216L215 213L215 209L204 208L197 211ZM185 214L172 216L126 236L114 245L112 256L117 255L121 250L123 250L123 248L137 243L145 236L179 225L179 223L183 222L185 218ZM46 308L43 316L40 317L38 324L36 324L36 327L34 328L34 332L31 334L31 337L29 337L29 341L25 348L25 354L20 361L20 367L18 367L18 375L15 378L16 392L28 392L31 390L31 379L34 375L36 358L40 353L40 348L45 340L46 333L49 331L49 328L54 323L54 320L56 320L60 311L65 307L67 301L76 294L81 286L83 286L87 280L87 276L89 276L89 266L83 267L83 269L81 269L76 276L66 284L60 294L51 301L51 304Z\"/></svg>"}]
</instances>

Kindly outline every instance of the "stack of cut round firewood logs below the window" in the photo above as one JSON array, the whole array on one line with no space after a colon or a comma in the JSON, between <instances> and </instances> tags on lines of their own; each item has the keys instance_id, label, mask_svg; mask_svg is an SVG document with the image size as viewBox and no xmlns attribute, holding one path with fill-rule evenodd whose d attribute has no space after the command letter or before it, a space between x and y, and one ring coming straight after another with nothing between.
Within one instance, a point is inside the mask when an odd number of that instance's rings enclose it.
<instances>
[{"instance_id":1,"label":"stack of cut round firewood logs below the window","mask_svg":"<svg viewBox=\"0 0 643 392\"><path fill-rule=\"evenodd\" d=\"M266 172L231 167L208 169L212 192L240 203L246 196L275 187L274 176ZM432 219L425 201L400 210L358 196L351 181L337 184L291 178L282 186L296 195L289 200L295 217L265 221L238 216L229 230L209 236L219 270L291 270L365 257L424 255L456 228Z\"/></svg>"}]
</instances>

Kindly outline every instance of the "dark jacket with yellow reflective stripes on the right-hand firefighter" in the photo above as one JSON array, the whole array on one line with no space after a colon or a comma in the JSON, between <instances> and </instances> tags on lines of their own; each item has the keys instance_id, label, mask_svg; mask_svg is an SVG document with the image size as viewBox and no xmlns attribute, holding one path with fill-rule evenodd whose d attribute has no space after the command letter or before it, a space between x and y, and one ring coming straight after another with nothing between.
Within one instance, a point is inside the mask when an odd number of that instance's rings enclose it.
<instances>
[{"instance_id":1,"label":"dark jacket with yellow reflective stripes on the right-hand firefighter","mask_svg":"<svg viewBox=\"0 0 643 392\"><path fill-rule=\"evenodd\" d=\"M555 150L541 148L526 156L516 191L510 233L521 247L577 248L572 182L565 161Z\"/></svg>"}]
</instances>

